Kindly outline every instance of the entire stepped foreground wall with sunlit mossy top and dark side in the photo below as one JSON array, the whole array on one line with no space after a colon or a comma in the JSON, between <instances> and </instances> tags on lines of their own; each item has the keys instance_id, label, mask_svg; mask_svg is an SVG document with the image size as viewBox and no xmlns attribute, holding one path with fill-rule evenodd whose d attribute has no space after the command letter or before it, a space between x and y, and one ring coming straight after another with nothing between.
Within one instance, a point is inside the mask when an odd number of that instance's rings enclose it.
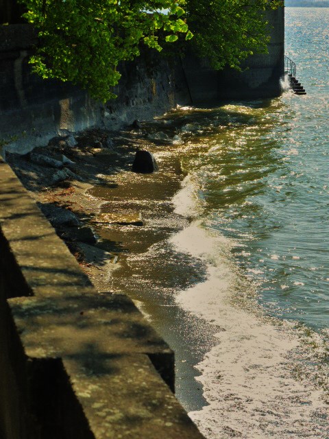
<instances>
[{"instance_id":1,"label":"entire stepped foreground wall with sunlit mossy top and dark side","mask_svg":"<svg viewBox=\"0 0 329 439\"><path fill-rule=\"evenodd\" d=\"M2 161L0 187L1 439L202 439L169 346L132 300L95 291Z\"/></svg>"}]
</instances>

